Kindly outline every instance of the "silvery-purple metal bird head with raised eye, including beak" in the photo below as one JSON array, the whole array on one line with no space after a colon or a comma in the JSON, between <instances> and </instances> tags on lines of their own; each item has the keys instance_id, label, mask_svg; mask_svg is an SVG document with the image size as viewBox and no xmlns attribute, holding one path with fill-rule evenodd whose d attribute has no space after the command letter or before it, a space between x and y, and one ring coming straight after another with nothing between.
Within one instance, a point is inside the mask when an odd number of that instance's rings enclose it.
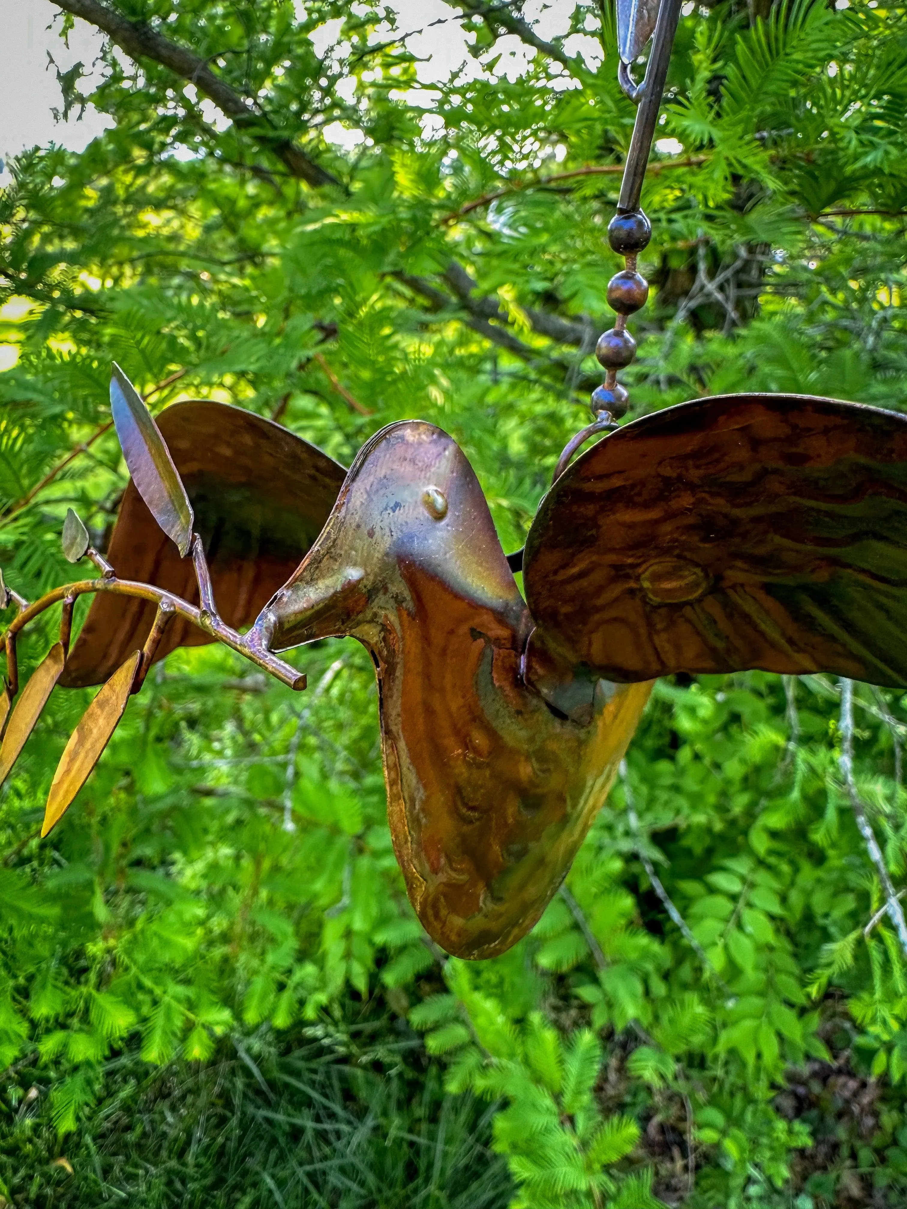
<instances>
[{"instance_id":1,"label":"silvery-purple metal bird head with raised eye, including beak","mask_svg":"<svg viewBox=\"0 0 907 1209\"><path fill-rule=\"evenodd\" d=\"M408 578L443 579L475 601L519 598L479 480L457 444L422 421L359 451L327 525L262 609L253 642L283 650L353 635L374 647L405 608Z\"/></svg>"}]
</instances>

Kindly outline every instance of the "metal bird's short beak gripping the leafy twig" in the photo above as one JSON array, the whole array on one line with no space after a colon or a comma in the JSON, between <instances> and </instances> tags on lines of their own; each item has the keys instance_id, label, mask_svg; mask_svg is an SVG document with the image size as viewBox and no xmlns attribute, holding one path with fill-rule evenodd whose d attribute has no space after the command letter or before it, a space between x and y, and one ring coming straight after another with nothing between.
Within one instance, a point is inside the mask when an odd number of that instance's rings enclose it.
<instances>
[{"instance_id":1,"label":"metal bird's short beak gripping the leafy twig","mask_svg":"<svg viewBox=\"0 0 907 1209\"><path fill-rule=\"evenodd\" d=\"M319 560L323 566L323 560ZM314 642L316 638L342 637L349 634L354 619L368 604L363 589L362 567L341 567L319 574L306 559L259 614L247 641L266 650Z\"/></svg>"}]
</instances>

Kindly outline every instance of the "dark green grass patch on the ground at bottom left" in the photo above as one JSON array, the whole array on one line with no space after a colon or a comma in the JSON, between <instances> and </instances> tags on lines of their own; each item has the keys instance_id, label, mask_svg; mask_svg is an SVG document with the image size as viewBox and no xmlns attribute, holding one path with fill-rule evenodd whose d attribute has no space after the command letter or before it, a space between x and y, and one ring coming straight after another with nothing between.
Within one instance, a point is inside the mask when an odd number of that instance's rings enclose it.
<instances>
[{"instance_id":1,"label":"dark green grass patch on the ground at bottom left","mask_svg":"<svg viewBox=\"0 0 907 1209\"><path fill-rule=\"evenodd\" d=\"M42 1080L21 1068L2 1089L0 1173L17 1209L504 1209L513 1192L492 1109L445 1097L409 1041L375 1055L247 1039L163 1069L123 1054L62 1141Z\"/></svg>"}]
</instances>

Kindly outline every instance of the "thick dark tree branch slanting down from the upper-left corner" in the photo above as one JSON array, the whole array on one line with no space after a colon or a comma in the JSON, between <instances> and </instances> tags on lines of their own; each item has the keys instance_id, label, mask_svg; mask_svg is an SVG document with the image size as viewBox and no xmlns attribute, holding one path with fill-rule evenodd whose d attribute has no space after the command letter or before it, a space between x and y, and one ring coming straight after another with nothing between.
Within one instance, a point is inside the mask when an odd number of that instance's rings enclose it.
<instances>
[{"instance_id":1,"label":"thick dark tree branch slanting down from the upper-left corner","mask_svg":"<svg viewBox=\"0 0 907 1209\"><path fill-rule=\"evenodd\" d=\"M273 129L266 118L250 109L236 89L214 75L207 59L163 37L144 22L127 21L98 0L51 0L51 2L103 30L131 58L151 59L195 85L198 92L214 102L237 129L247 131L256 143L266 146L283 161L291 177L305 180L313 187L340 184L336 177L311 160L291 139Z\"/></svg>"}]
</instances>

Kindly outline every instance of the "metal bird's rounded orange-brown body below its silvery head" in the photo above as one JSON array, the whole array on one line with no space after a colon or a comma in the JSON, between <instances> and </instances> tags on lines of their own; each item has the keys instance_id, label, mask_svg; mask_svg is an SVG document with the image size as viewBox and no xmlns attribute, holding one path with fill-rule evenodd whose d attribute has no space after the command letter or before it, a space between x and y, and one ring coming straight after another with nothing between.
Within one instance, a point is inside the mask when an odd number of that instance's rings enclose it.
<instances>
[{"instance_id":1,"label":"metal bird's rounded orange-brown body below its silvery head","mask_svg":"<svg viewBox=\"0 0 907 1209\"><path fill-rule=\"evenodd\" d=\"M521 671L519 594L496 607L401 571L411 609L372 647L397 858L426 930L457 956L493 956L560 885L648 686L612 686L588 723L559 717Z\"/></svg>"}]
</instances>

